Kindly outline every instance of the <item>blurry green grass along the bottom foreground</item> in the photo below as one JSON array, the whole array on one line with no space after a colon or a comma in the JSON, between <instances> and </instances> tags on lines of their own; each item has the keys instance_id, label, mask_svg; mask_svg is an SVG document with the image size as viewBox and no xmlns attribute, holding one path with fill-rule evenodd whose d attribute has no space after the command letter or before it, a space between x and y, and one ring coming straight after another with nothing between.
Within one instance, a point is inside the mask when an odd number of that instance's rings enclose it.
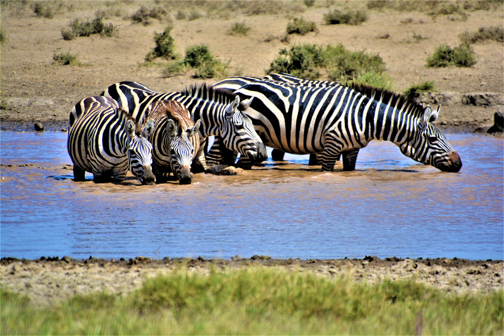
<instances>
[{"instance_id":1,"label":"blurry green grass along the bottom foreground","mask_svg":"<svg viewBox=\"0 0 504 336\"><path fill-rule=\"evenodd\" d=\"M37 307L1 291L2 334L502 334L503 292L455 295L249 267L146 279L128 295Z\"/></svg>"}]
</instances>

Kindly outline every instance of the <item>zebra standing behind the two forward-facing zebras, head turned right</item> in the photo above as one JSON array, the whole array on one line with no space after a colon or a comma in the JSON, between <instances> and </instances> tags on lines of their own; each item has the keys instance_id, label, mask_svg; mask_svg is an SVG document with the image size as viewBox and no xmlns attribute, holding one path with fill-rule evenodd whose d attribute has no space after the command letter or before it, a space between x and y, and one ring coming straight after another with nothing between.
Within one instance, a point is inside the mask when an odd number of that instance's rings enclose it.
<instances>
[{"instance_id":1,"label":"zebra standing behind the two forward-facing zebras, head turned right","mask_svg":"<svg viewBox=\"0 0 504 336\"><path fill-rule=\"evenodd\" d=\"M147 111L147 107L158 100L176 100L187 107L193 121L201 120L199 131L200 147L193 161L207 170L204 147L211 136L223 138L224 145L247 157L251 162L262 162L267 158L266 148L257 135L250 118L241 111L252 99L240 100L238 95L228 90L214 89L194 84L182 92L157 93L136 82L120 82L109 86L103 96L119 102L137 120ZM249 168L249 167L248 167Z\"/></svg>"}]
</instances>

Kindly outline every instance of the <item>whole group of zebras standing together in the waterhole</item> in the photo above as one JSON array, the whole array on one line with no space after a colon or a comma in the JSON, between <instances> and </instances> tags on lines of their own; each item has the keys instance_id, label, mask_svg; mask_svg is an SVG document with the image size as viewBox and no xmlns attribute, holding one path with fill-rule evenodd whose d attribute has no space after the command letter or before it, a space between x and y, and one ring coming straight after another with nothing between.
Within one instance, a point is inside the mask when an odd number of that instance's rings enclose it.
<instances>
[{"instance_id":1,"label":"whole group of zebras standing together in the waterhole","mask_svg":"<svg viewBox=\"0 0 504 336\"><path fill-rule=\"evenodd\" d=\"M77 181L85 171L105 181L122 180L130 170L142 184L170 173L191 183L191 170L218 163L250 169L267 158L265 145L312 154L323 171L342 156L348 171L371 140L391 141L415 161L458 172L459 155L432 124L438 113L439 107L387 90L287 74L231 77L168 93L120 82L76 104L67 147Z\"/></svg>"}]
</instances>

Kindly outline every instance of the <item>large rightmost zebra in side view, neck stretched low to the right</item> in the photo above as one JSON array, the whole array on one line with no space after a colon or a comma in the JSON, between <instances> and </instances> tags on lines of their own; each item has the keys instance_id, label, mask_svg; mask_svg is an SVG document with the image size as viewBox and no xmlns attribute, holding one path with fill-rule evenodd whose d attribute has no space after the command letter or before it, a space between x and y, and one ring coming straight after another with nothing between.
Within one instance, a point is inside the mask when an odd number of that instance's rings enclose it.
<instances>
[{"instance_id":1,"label":"large rightmost zebra in side view, neck stretched low to the right","mask_svg":"<svg viewBox=\"0 0 504 336\"><path fill-rule=\"evenodd\" d=\"M340 154L343 170L354 170L358 150L375 139L391 141L404 155L442 171L462 167L457 152L432 124L439 107L432 111L387 90L256 80L235 93L254 97L245 113L265 145L292 154L321 153L324 171L334 169Z\"/></svg>"}]
</instances>

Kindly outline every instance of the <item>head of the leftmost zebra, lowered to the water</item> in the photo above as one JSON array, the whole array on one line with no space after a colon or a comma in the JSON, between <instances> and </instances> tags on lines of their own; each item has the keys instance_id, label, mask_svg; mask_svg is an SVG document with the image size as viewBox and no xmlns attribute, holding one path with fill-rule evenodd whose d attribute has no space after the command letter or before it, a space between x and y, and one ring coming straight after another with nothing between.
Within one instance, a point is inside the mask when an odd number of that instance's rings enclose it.
<instances>
[{"instance_id":1,"label":"head of the leftmost zebra, lowered to the water","mask_svg":"<svg viewBox=\"0 0 504 336\"><path fill-rule=\"evenodd\" d=\"M142 184L153 185L156 176L152 173L152 145L149 135L154 130L154 120L149 119L142 131L137 129L133 120L126 122L126 135L128 140L128 167L133 175L138 177Z\"/></svg>"}]
</instances>

